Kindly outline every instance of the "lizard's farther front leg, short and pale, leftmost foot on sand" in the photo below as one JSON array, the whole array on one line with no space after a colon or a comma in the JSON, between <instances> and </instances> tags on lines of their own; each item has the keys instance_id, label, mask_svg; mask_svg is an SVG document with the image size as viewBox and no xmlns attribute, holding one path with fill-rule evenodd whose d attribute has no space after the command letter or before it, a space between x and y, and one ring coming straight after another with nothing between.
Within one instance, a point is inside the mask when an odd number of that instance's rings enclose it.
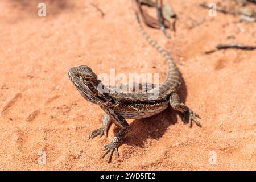
<instances>
[{"instance_id":1,"label":"lizard's farther front leg, short and pale, leftmost foot on sand","mask_svg":"<svg viewBox=\"0 0 256 182\"><path fill-rule=\"evenodd\" d=\"M102 137L102 135L105 135L105 137L108 137L108 128L111 123L112 123L111 118L109 117L108 114L105 113L102 118L102 126L99 129L93 130L89 134L89 139L93 139L98 135L100 135L100 137Z\"/></svg>"}]
</instances>

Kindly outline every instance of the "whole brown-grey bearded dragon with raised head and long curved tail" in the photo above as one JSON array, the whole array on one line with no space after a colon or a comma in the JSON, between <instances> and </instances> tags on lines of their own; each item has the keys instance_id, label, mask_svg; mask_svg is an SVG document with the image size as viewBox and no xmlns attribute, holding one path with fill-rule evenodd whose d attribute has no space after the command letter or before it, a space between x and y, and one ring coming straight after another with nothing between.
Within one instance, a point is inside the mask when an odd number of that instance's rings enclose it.
<instances>
[{"instance_id":1,"label":"whole brown-grey bearded dragon with raised head and long curved tail","mask_svg":"<svg viewBox=\"0 0 256 182\"><path fill-rule=\"evenodd\" d=\"M137 13L135 13L135 19L138 24L139 30L146 40L155 47L164 57L168 64L168 75L163 84L159 86L152 86L146 93L112 93L110 88L104 86L96 74L86 65L79 67L73 67L69 69L68 76L76 86L81 95L88 101L97 104L105 111L102 126L100 129L96 129L89 134L89 138L93 139L97 135L107 136L108 127L110 123L114 122L121 127L121 130L115 135L112 142L105 145L104 154L110 153L108 162L111 161L113 152L118 154L118 146L121 144L121 139L126 135L129 130L129 124L125 118L146 118L152 115L158 114L170 105L173 109L180 111L184 114L183 121L189 123L192 126L192 121L197 126L201 127L199 121L197 121L197 115L188 106L180 102L180 98L176 93L177 88L180 85L180 73L176 64L171 59L170 55L162 47L159 46L154 40L147 35L143 30ZM100 85L100 87L98 87ZM101 88L99 90L98 88ZM152 97L157 91L158 97Z\"/></svg>"}]
</instances>

